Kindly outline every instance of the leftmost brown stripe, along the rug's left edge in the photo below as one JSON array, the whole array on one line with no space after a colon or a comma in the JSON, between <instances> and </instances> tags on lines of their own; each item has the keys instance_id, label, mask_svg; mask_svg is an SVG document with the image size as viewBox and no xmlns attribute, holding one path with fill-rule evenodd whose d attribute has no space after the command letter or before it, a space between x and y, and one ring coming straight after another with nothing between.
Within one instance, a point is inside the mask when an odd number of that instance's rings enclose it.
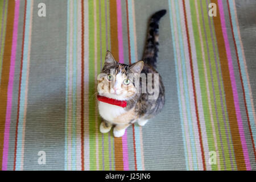
<instances>
[{"instance_id":1,"label":"leftmost brown stripe, along the rug's left edge","mask_svg":"<svg viewBox=\"0 0 256 182\"><path fill-rule=\"evenodd\" d=\"M7 89L10 71L11 44L13 41L14 6L14 0L8 1L5 48L3 52L3 64L0 85L0 169L2 169L3 133L5 132Z\"/></svg>"}]
</instances>

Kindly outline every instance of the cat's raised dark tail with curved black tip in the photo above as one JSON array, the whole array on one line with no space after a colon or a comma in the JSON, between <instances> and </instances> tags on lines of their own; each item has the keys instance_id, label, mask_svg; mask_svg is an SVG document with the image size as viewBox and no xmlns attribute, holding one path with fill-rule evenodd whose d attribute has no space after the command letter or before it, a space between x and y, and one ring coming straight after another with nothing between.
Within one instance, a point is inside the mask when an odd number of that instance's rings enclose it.
<instances>
[{"instance_id":1,"label":"cat's raised dark tail with curved black tip","mask_svg":"<svg viewBox=\"0 0 256 182\"><path fill-rule=\"evenodd\" d=\"M151 16L148 32L146 46L143 54L143 61L146 64L151 65L156 68L156 57L158 56L158 37L159 37L159 20L166 14L166 10L160 10Z\"/></svg>"}]
</instances>

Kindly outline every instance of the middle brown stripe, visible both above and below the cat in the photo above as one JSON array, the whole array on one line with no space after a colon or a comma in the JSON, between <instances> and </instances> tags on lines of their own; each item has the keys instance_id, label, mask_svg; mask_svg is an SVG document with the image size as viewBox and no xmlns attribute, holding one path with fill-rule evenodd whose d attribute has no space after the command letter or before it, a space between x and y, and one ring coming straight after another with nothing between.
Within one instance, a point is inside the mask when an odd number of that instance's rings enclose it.
<instances>
[{"instance_id":1,"label":"middle brown stripe, visible both above and below the cat","mask_svg":"<svg viewBox=\"0 0 256 182\"><path fill-rule=\"evenodd\" d=\"M118 59L118 37L117 37L117 2L115 0L109 1L110 9L110 38L111 38L111 52L115 59ZM122 138L114 138L115 148L115 170L123 170L123 147Z\"/></svg>"}]
</instances>

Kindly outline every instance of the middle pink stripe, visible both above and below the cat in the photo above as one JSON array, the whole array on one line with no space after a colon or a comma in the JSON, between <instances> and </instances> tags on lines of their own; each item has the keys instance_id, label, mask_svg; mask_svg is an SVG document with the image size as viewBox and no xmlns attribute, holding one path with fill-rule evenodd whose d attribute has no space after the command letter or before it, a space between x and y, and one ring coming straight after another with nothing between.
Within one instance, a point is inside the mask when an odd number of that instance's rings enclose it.
<instances>
[{"instance_id":1,"label":"middle pink stripe, visible both above and below the cat","mask_svg":"<svg viewBox=\"0 0 256 182\"><path fill-rule=\"evenodd\" d=\"M123 29L122 29L122 6L121 0L117 0L117 36L118 36L118 50L119 63L123 63ZM129 171L128 147L127 147L127 131L122 137L123 143L123 170Z\"/></svg>"}]
</instances>

